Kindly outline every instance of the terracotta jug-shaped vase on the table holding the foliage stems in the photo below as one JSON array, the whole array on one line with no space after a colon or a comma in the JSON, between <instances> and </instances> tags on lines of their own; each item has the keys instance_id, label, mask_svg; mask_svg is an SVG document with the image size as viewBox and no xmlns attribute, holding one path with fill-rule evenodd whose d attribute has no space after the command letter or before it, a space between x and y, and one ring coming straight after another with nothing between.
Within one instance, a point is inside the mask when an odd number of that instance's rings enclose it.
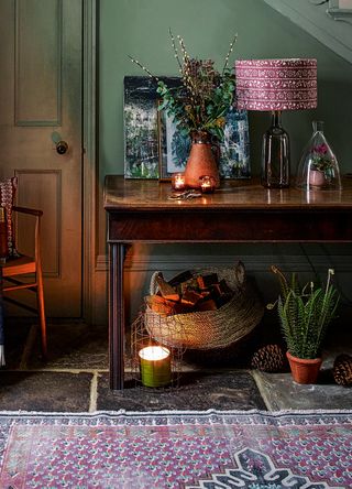
<instances>
[{"instance_id":1,"label":"terracotta jug-shaped vase on the table holding the foliage stems","mask_svg":"<svg viewBox=\"0 0 352 489\"><path fill-rule=\"evenodd\" d=\"M219 170L213 148L208 132L198 131L191 134L191 148L185 169L185 183L187 187L200 188L200 177L204 175L213 177L216 187L220 186Z\"/></svg>"}]
</instances>

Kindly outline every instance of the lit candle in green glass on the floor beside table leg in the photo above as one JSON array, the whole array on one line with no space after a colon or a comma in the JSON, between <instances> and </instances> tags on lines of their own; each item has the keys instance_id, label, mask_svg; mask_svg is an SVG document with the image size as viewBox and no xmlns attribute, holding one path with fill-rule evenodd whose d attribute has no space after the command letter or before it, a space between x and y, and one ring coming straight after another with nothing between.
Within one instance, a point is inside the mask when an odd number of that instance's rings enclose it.
<instances>
[{"instance_id":1,"label":"lit candle in green glass on the floor beside table leg","mask_svg":"<svg viewBox=\"0 0 352 489\"><path fill-rule=\"evenodd\" d=\"M140 350L139 356L143 385L156 388L170 383L170 355L167 348L145 347Z\"/></svg>"}]
</instances>

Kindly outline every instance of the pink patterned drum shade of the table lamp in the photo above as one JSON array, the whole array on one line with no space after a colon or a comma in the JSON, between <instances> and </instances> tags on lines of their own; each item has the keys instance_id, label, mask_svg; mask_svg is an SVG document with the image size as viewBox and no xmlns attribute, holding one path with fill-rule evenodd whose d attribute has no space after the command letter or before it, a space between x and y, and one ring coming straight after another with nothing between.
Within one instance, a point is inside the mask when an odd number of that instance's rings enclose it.
<instances>
[{"instance_id":1,"label":"pink patterned drum shade of the table lamp","mask_svg":"<svg viewBox=\"0 0 352 489\"><path fill-rule=\"evenodd\" d=\"M238 109L317 107L317 59L239 59L235 79Z\"/></svg>"}]
</instances>

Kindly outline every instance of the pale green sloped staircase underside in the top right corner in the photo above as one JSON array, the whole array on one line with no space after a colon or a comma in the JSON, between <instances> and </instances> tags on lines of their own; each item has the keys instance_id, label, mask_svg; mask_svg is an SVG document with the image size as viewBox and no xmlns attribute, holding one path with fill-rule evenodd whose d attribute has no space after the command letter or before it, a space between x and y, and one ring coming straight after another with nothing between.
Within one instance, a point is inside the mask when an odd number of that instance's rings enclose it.
<instances>
[{"instance_id":1,"label":"pale green sloped staircase underside in the top right corner","mask_svg":"<svg viewBox=\"0 0 352 489\"><path fill-rule=\"evenodd\" d=\"M330 0L323 3L320 0L264 1L328 48L352 63L351 0Z\"/></svg>"}]
</instances>

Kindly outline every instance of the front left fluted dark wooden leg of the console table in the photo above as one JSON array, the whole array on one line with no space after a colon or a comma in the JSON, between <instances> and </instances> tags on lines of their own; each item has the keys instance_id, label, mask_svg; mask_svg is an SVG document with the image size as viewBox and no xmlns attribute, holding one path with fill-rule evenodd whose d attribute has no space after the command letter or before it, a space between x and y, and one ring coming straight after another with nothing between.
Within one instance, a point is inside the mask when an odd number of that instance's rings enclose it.
<instances>
[{"instance_id":1,"label":"front left fluted dark wooden leg of the console table","mask_svg":"<svg viewBox=\"0 0 352 489\"><path fill-rule=\"evenodd\" d=\"M109 354L110 389L123 390L124 379L124 298L123 261L124 244L109 244Z\"/></svg>"}]
</instances>

